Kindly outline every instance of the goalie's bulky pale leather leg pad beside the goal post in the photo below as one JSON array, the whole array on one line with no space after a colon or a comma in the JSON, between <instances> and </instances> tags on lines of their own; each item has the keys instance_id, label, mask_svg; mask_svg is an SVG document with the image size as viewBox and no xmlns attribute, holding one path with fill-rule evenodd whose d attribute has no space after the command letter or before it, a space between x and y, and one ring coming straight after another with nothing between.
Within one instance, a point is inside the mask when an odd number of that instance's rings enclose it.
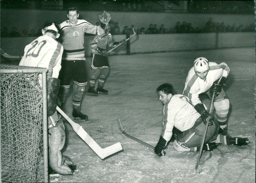
<instances>
[{"instance_id":1,"label":"goalie's bulky pale leather leg pad beside the goal post","mask_svg":"<svg viewBox=\"0 0 256 183\"><path fill-rule=\"evenodd\" d=\"M49 129L49 164L53 171L61 175L71 175L72 170L65 163L61 150L65 144L65 126L63 121L58 122L55 127ZM65 165L66 164L66 165Z\"/></svg>"}]
</instances>

